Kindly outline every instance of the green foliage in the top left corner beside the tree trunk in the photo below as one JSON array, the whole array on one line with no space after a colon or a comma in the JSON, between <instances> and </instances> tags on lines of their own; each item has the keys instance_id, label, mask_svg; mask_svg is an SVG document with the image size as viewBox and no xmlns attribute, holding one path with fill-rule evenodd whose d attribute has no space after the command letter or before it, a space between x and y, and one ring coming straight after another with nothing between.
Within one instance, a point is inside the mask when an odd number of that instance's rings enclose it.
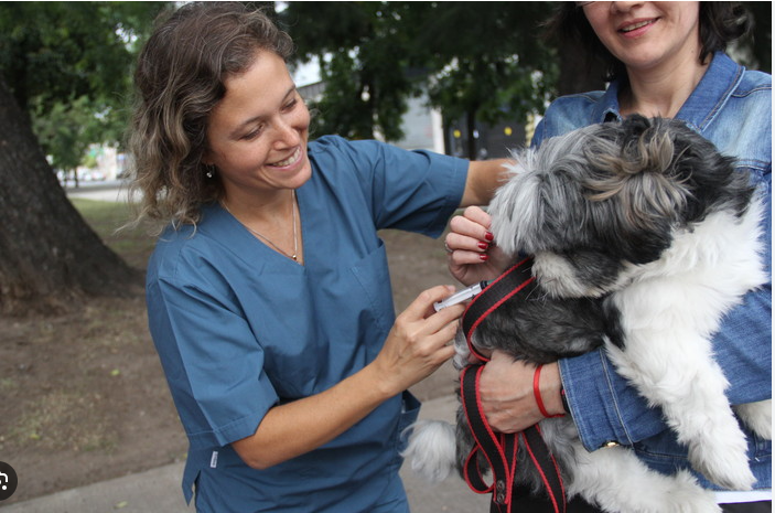
<instances>
[{"instance_id":1,"label":"green foliage in the top left corner beside the tree trunk","mask_svg":"<svg viewBox=\"0 0 775 513\"><path fill-rule=\"evenodd\" d=\"M55 165L121 140L139 44L165 2L0 2L0 79Z\"/></svg>"}]
</instances>

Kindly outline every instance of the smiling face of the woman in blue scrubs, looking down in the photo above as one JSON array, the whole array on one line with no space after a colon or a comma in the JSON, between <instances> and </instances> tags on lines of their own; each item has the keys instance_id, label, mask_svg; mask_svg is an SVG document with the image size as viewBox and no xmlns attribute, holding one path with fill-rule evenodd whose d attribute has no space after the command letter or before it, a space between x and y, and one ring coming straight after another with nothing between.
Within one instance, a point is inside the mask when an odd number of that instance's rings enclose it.
<instances>
[{"instance_id":1,"label":"smiling face of the woman in blue scrubs, looking down","mask_svg":"<svg viewBox=\"0 0 775 513\"><path fill-rule=\"evenodd\" d=\"M298 189L311 175L310 113L282 57L258 51L244 73L224 81L203 161L214 164L226 195Z\"/></svg>"}]
</instances>

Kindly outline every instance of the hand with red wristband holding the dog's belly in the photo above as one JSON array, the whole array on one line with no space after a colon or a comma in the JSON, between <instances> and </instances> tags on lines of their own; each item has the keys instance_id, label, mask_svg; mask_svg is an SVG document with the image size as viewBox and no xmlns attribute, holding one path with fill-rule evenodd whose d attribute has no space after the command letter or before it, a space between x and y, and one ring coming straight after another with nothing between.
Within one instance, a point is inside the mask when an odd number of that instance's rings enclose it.
<instances>
[{"instance_id":1,"label":"hand with red wristband holding the dog's belly","mask_svg":"<svg viewBox=\"0 0 775 513\"><path fill-rule=\"evenodd\" d=\"M480 378L482 409L493 429L519 432L543 420L532 391L536 366L494 351ZM539 391L550 415L564 414L557 363L543 365Z\"/></svg>"}]
</instances>

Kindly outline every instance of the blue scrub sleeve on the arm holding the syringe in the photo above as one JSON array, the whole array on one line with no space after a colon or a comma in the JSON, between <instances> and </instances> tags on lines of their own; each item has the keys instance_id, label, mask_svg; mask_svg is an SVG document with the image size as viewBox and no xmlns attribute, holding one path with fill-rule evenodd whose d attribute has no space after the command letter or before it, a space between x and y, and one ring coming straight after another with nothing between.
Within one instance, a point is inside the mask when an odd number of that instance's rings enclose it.
<instances>
[{"instance_id":1,"label":"blue scrub sleeve on the arm holding the syringe","mask_svg":"<svg viewBox=\"0 0 775 513\"><path fill-rule=\"evenodd\" d=\"M191 448L220 447L256 432L278 396L245 319L201 287L168 279L150 282L147 300Z\"/></svg>"}]
</instances>

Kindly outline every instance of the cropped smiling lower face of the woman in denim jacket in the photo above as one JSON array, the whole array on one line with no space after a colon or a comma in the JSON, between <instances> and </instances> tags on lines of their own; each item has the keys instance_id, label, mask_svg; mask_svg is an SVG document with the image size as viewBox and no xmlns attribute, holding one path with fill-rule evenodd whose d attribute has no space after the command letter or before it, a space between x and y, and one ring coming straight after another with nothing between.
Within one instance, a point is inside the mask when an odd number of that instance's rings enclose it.
<instances>
[{"instance_id":1,"label":"cropped smiling lower face of the woman in denim jacket","mask_svg":"<svg viewBox=\"0 0 775 513\"><path fill-rule=\"evenodd\" d=\"M629 70L699 58L699 2L590 2L583 9L600 41Z\"/></svg>"}]
</instances>

